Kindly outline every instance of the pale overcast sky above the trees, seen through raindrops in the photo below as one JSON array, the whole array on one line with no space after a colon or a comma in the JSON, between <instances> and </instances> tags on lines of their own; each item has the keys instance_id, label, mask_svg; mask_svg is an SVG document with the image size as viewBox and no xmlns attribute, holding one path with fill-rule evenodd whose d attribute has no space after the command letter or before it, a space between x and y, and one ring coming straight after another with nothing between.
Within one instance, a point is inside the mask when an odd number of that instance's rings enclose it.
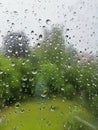
<instances>
[{"instance_id":1,"label":"pale overcast sky above the trees, seen through raindrops","mask_svg":"<svg viewBox=\"0 0 98 130\"><path fill-rule=\"evenodd\" d=\"M46 22L50 19L50 22ZM70 43L81 51L98 51L98 0L0 0L0 42L7 31L23 30L28 37L39 35L43 26L59 24Z\"/></svg>"}]
</instances>

